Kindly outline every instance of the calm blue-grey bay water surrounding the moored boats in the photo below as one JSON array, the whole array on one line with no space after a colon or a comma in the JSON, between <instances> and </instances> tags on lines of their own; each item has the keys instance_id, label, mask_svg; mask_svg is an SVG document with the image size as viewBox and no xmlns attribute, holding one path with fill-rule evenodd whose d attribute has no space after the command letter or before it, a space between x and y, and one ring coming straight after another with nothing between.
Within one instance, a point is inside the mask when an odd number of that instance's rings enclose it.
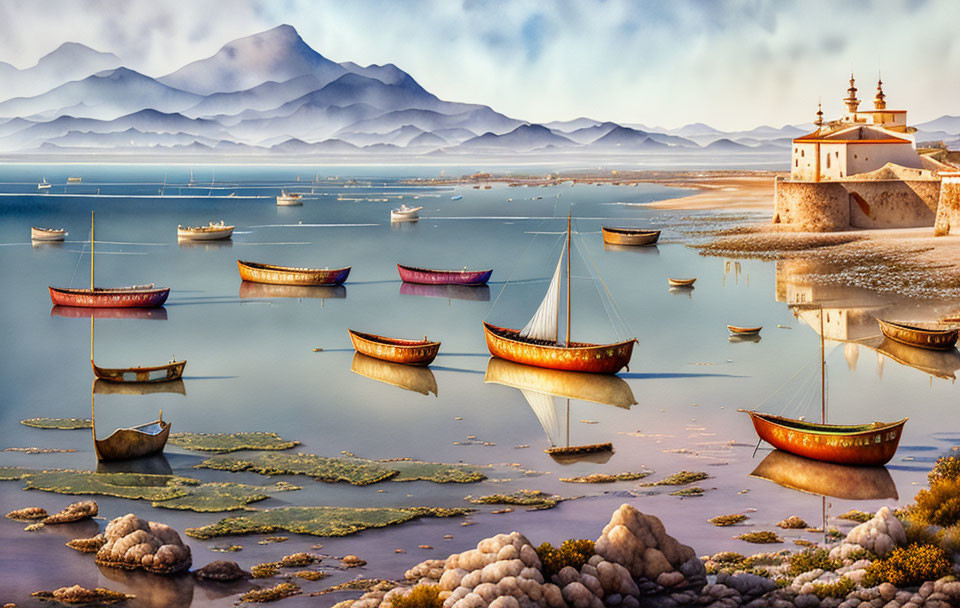
<instances>
[{"instance_id":1,"label":"calm blue-grey bay water surrounding the moored boats","mask_svg":"<svg viewBox=\"0 0 960 608\"><path fill-rule=\"evenodd\" d=\"M446 170L461 174L475 168ZM809 313L795 317L788 304L796 302L822 303L830 315L825 321L831 338L827 340L831 422L910 417L900 451L887 467L890 479L855 475L852 485L863 487L863 493L870 495L870 488L889 489L892 483L900 502L909 502L930 463L960 442L957 393L950 379L960 364L955 364L951 355L924 359L882 345L878 350L873 321L878 315L935 318L956 303L811 287L795 264L778 268L774 263L700 257L685 246L689 239L678 228L690 225L685 216L712 221L712 214L665 213L623 204L677 194L656 185L496 185L490 190L474 190L412 188L399 181L440 172L430 167L338 167L321 170L319 183L312 185L317 175L314 168L217 167L214 171L207 167L194 171L194 179L202 185L191 188L186 185L189 169L182 167L0 169L0 278L6 286L0 315L0 335L6 346L0 366L5 389L0 447L78 450L45 455L5 452L0 454L0 466L97 466L89 432L36 430L19 424L34 416L89 416L90 324L87 317L71 318L51 311L47 286L88 284L89 256L81 256L81 252L89 250L84 240L89 235L91 210L97 217L98 285L155 282L171 287L162 314L97 321L98 363L156 364L173 356L188 360L185 396L97 395L96 422L101 435L117 426L151 420L162 408L174 432L273 431L301 441L305 452L326 456L350 451L368 458L518 463L523 469L545 473L524 477L506 473L509 469L501 466L496 469L497 480L469 486L418 482L364 488L291 477L286 479L304 489L279 494L257 507L463 506L467 494L518 488L584 496L537 513L518 509L493 515L491 508L484 507L472 517L477 525L471 527L461 527L459 519L426 520L341 539L290 535L286 543L266 546L258 545L257 537L241 537L233 540L244 550L227 556L210 551L212 546L229 544L224 539L189 539L195 567L226 557L249 568L310 550L316 543L323 544L320 552L355 553L369 562L362 570L331 570L332 575L324 581L304 582L304 590L310 592L357 576L397 577L423 559L462 551L493 532L518 529L535 542L596 538L612 510L625 501L662 517L672 534L701 554L721 549L749 552L755 548L731 537L750 529L772 529L788 515L819 524L817 495L749 476L768 451L761 448L754 455L756 436L747 417L736 412L739 407L756 406L786 383L764 409L810 419L819 416L815 376L801 372L790 380L804 366L813 369L810 364L815 364L819 353L818 335L805 323L819 328L819 322ZM72 175L82 175L82 184L65 187L66 177ZM298 176L304 180L299 184ZM35 196L36 183L42 177L57 185L49 194ZM355 181L349 182L351 179ZM302 207L277 208L273 197L281 187L305 192L308 200ZM150 198L161 189L166 198ZM235 196L228 197L231 193ZM457 195L463 198L451 200ZM423 205L423 218L415 224L391 226L389 209L400 203ZM543 453L549 447L545 429L521 392L484 381L489 356L480 322L486 318L518 326L533 313L556 264L571 203L583 258L574 266L580 277L573 294L574 339L602 341L631 331L630 337L639 338L630 371L620 375L635 405L618 408L570 402L571 443L613 442L616 451L606 463L554 462ZM237 226L232 241L177 244L178 224L220 219ZM601 223L653 225L664 233L655 248L604 249ZM31 246L31 225L65 227L70 236L63 245ZM353 269L344 288L322 293L325 297L271 297L305 294L242 287L236 271L238 258L291 266L349 265ZM397 276L397 262L490 267L494 274L488 290L409 293ZM622 311L624 324L612 324L605 314L603 286L598 288L597 282L587 278L594 267ZM695 276L696 287L671 292L668 276ZM510 284L501 295L508 277ZM728 323L763 325L762 339L731 342L725 327ZM442 340L440 356L429 373L402 378L402 382L428 390L435 382L436 395L372 379L370 376L390 374L383 366L351 371L354 353L347 327ZM862 344L837 341L854 338ZM313 352L317 347L323 351ZM793 388L804 382L813 390L791 401L796 397ZM590 393L594 389L588 384L584 390ZM556 411L564 417L565 403L558 405ZM566 420L556 422L563 441ZM468 437L476 441L467 441ZM174 473L205 481L277 481L250 473L193 469L202 456L172 446L165 458ZM776 470L792 471L796 479L797 469L789 466L781 463ZM641 467L656 471L650 480L683 469L706 471L711 478L700 484L707 490L706 497L680 499L668 496L670 488L652 492L638 483L596 486L558 480ZM827 493L831 488L823 488L837 479L831 471L801 467L800 472L818 479L820 491ZM6 512L38 505L55 511L71 502L69 496L23 493L22 486L22 482L0 483L0 509ZM836 487L832 491L843 494ZM133 511L179 530L226 515L93 498L107 520ZM828 510L835 516L851 507L872 510L895 502L890 498L831 498ZM748 510L747 526L714 528L705 522L714 515ZM249 588L249 584L204 586L189 577L163 579L100 570L92 557L63 546L70 538L95 534L91 522L32 534L23 532L22 527L0 521L0 601L29 606L32 604L25 598L32 591L79 583L135 593L138 599L131 602L133 606L229 606L237 592ZM445 534L452 534L453 540L444 540ZM805 532L784 536L815 540ZM419 549L421 544L435 548ZM785 546L792 546L790 540ZM394 553L397 548L406 553ZM297 598L285 604L332 605L346 597Z\"/></svg>"}]
</instances>

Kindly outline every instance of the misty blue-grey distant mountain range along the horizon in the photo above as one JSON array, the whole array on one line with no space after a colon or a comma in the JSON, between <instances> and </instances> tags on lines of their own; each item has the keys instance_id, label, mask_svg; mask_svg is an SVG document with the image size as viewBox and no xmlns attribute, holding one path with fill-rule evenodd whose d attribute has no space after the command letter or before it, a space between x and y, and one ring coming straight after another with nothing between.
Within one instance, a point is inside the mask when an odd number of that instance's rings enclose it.
<instances>
[{"instance_id":1,"label":"misty blue-grey distant mountain range along the horizon","mask_svg":"<svg viewBox=\"0 0 960 608\"><path fill-rule=\"evenodd\" d=\"M157 78L77 43L22 70L0 62L0 153L7 154L788 158L791 140L812 128L724 132L583 117L537 124L439 99L393 64L331 61L289 25ZM960 145L960 116L918 129L918 141Z\"/></svg>"}]
</instances>

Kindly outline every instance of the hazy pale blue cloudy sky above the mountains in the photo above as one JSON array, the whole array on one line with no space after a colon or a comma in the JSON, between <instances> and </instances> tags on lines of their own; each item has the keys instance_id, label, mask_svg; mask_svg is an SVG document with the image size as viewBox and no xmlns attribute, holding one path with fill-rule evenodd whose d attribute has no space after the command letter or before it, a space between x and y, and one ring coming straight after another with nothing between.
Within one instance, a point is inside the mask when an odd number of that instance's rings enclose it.
<instances>
[{"instance_id":1,"label":"hazy pale blue cloudy sky above the mountains","mask_svg":"<svg viewBox=\"0 0 960 608\"><path fill-rule=\"evenodd\" d=\"M151 76L281 23L335 61L392 62L443 99L531 121L726 129L841 111L850 70L911 122L960 114L960 2L0 0L0 60L66 41Z\"/></svg>"}]
</instances>

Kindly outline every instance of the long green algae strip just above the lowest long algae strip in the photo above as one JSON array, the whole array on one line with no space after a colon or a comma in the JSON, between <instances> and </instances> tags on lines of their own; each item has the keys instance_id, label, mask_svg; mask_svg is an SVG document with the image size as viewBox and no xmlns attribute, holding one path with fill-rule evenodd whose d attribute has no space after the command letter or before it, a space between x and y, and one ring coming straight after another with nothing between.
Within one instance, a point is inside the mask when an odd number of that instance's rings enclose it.
<instances>
[{"instance_id":1,"label":"long green algae strip just above the lowest long algae strip","mask_svg":"<svg viewBox=\"0 0 960 608\"><path fill-rule=\"evenodd\" d=\"M218 471L252 471L261 475L309 475L318 481L366 486L381 481L472 483L486 479L481 467L419 460L368 460L353 455L327 457L305 453L217 455L196 465Z\"/></svg>"}]
</instances>

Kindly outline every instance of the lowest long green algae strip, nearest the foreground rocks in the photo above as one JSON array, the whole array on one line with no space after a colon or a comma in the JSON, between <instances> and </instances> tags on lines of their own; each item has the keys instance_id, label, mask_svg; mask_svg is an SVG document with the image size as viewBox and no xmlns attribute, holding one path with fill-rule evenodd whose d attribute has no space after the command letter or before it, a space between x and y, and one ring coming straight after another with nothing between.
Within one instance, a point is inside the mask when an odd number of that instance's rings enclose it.
<instances>
[{"instance_id":1,"label":"lowest long green algae strip, nearest the foreground rocks","mask_svg":"<svg viewBox=\"0 0 960 608\"><path fill-rule=\"evenodd\" d=\"M420 517L458 517L469 512L470 509L431 507L277 507L239 517L227 517L209 526L187 528L184 532L187 536L201 540L281 531L313 536L347 536L369 528L406 523Z\"/></svg>"}]
</instances>

